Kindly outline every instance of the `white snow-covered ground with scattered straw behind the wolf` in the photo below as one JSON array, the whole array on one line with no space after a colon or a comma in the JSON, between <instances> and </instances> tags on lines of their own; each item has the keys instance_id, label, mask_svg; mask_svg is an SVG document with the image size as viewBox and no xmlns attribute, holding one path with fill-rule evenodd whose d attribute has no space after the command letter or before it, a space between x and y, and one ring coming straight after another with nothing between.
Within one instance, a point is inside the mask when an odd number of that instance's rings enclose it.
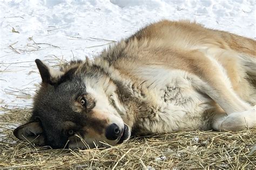
<instances>
[{"instance_id":1,"label":"white snow-covered ground with scattered straw behind the wolf","mask_svg":"<svg viewBox=\"0 0 256 170\"><path fill-rule=\"evenodd\" d=\"M31 107L41 81L35 59L54 66L93 58L163 18L256 37L253 0L0 1L0 11L0 104L8 108Z\"/></svg>"}]
</instances>

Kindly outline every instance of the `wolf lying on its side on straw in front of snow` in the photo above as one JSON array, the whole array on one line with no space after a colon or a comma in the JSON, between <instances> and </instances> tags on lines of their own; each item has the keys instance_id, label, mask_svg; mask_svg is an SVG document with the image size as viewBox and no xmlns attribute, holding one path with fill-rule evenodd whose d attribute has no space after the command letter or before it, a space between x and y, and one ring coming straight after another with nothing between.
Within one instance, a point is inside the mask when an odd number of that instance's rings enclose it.
<instances>
[{"instance_id":1,"label":"wolf lying on its side on straw in front of snow","mask_svg":"<svg viewBox=\"0 0 256 170\"><path fill-rule=\"evenodd\" d=\"M187 21L163 20L91 62L42 77L32 116L14 134L52 148L93 148L134 136L256 125L256 41Z\"/></svg>"}]
</instances>

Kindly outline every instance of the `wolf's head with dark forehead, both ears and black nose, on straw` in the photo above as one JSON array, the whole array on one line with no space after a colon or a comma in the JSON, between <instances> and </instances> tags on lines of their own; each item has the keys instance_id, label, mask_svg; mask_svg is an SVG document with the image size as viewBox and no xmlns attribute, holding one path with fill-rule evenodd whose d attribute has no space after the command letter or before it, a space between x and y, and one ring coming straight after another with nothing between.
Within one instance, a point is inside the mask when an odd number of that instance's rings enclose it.
<instances>
[{"instance_id":1,"label":"wolf's head with dark forehead, both ears and black nose, on straw","mask_svg":"<svg viewBox=\"0 0 256 170\"><path fill-rule=\"evenodd\" d=\"M107 147L130 137L116 86L87 60L60 70L36 60L42 77L30 121L15 129L18 139L52 148Z\"/></svg>"}]
</instances>

